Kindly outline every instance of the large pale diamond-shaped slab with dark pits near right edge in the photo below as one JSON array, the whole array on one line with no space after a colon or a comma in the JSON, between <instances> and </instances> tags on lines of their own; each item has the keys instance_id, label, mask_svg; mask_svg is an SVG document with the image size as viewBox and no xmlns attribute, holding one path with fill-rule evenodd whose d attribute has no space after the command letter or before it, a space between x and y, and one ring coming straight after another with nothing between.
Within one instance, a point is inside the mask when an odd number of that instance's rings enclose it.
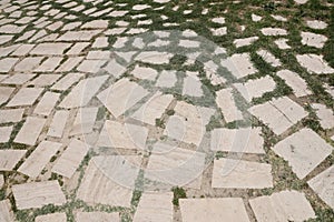
<instances>
[{"instance_id":1,"label":"large pale diamond-shaped slab with dark pits near right edge","mask_svg":"<svg viewBox=\"0 0 334 222\"><path fill-rule=\"evenodd\" d=\"M302 129L275 144L273 150L303 179L332 153L333 148L311 129Z\"/></svg>"}]
</instances>

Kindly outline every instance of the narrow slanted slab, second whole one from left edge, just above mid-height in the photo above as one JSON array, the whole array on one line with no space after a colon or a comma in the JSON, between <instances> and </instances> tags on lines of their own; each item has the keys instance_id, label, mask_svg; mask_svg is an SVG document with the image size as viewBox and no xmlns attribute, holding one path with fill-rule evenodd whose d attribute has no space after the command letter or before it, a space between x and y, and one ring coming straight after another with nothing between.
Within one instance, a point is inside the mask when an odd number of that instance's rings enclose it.
<instances>
[{"instance_id":1,"label":"narrow slanted slab, second whole one from left edge, just above mid-height","mask_svg":"<svg viewBox=\"0 0 334 222\"><path fill-rule=\"evenodd\" d=\"M49 115L53 110L57 101L59 100L60 93L46 92L36 105L33 113L40 115Z\"/></svg>"}]
</instances>

